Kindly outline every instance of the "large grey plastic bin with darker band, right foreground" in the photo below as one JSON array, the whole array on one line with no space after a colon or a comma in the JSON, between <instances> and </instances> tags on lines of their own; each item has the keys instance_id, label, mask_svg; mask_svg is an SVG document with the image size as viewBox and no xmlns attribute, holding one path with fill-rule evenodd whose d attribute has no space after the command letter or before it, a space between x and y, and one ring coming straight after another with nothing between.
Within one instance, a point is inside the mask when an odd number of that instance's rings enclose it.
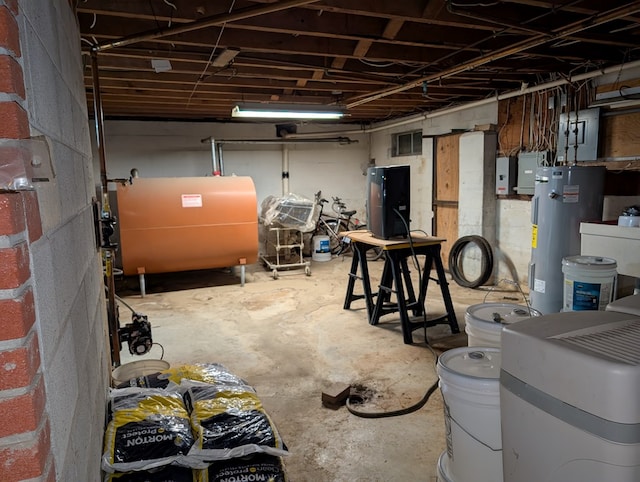
<instances>
[{"instance_id":1,"label":"large grey plastic bin with darker band, right foreground","mask_svg":"<svg viewBox=\"0 0 640 482\"><path fill-rule=\"evenodd\" d=\"M640 317L505 326L500 406L505 482L640 481Z\"/></svg>"}]
</instances>

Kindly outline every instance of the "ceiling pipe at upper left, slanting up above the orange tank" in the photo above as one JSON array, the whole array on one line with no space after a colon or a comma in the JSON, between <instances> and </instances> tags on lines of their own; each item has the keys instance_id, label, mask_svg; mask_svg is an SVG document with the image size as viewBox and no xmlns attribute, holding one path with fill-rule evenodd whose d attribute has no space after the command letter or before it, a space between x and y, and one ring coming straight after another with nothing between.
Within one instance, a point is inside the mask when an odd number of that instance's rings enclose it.
<instances>
[{"instance_id":1,"label":"ceiling pipe at upper left, slanting up above the orange tank","mask_svg":"<svg viewBox=\"0 0 640 482\"><path fill-rule=\"evenodd\" d=\"M213 27L221 25L223 23L235 22L237 20L244 20L251 17L257 17L267 13L279 12L281 10L287 10L293 7L300 7L309 3L315 3L318 0L289 0L286 2L278 2L264 7L257 8L243 8L233 13L224 13L220 15L212 15L205 17L201 20L188 23L186 25L178 25L172 28L160 28L157 30L150 30L140 34L129 35L123 37L120 40L114 40L113 42L107 42L97 45L94 49L98 52L109 50L115 47L124 47L138 42L144 42L145 40L153 40L160 37L168 37L170 35L178 35L185 32L192 32L193 30L200 30L207 27Z\"/></svg>"}]
</instances>

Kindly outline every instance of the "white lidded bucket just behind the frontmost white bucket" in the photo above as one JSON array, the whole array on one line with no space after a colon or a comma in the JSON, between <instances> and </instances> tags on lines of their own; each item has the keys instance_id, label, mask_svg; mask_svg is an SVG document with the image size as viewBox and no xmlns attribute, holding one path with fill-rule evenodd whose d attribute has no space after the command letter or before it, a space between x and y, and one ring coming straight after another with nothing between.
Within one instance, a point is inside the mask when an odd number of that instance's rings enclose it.
<instances>
[{"instance_id":1,"label":"white lidded bucket just behind the frontmost white bucket","mask_svg":"<svg viewBox=\"0 0 640 482\"><path fill-rule=\"evenodd\" d=\"M502 328L517 321L540 316L533 308L512 303L480 303L471 305L464 314L464 331L469 346L500 348Z\"/></svg>"}]
</instances>

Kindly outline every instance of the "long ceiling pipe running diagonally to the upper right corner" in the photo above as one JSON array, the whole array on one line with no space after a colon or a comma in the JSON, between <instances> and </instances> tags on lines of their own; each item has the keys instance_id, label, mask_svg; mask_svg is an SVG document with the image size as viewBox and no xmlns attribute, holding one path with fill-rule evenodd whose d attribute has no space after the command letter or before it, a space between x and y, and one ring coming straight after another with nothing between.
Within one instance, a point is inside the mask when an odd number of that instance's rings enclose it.
<instances>
[{"instance_id":1,"label":"long ceiling pipe running diagonally to the upper right corner","mask_svg":"<svg viewBox=\"0 0 640 482\"><path fill-rule=\"evenodd\" d=\"M494 53L483 55L478 57L470 62L465 62L463 64L457 65L450 69L444 70L442 72L438 72L436 74L431 74L425 77L421 77L420 79L411 81L407 84L392 87L390 89L379 90L376 93L368 95L360 100L354 100L352 102L348 102L346 104L347 109L352 109L353 107L357 107L359 105L367 104L369 102L373 102L374 100L382 99L383 97L388 97L389 95L398 94L400 92L404 92L415 87L419 87L423 82L430 82L437 79L445 79L447 77L451 77L453 75L465 72L467 70L475 69L476 67L480 67L482 65L488 64L495 60L500 60L509 55L517 54L524 50L529 50L531 48L537 47L544 43L550 42L552 40L556 40L559 38L568 37L570 35L576 34L583 30L587 30L592 27L596 27L598 25L602 25L607 22L611 22L613 20L618 20L620 18L626 17L628 15L633 15L637 12L640 12L640 2L635 1L631 2L628 5L623 7L614 8L607 12L603 12L601 14L593 15L587 19L579 20L574 22L562 29L556 29L550 35L539 35L532 39L523 40L514 44L511 47L503 48L501 50L497 50Z\"/></svg>"}]
</instances>

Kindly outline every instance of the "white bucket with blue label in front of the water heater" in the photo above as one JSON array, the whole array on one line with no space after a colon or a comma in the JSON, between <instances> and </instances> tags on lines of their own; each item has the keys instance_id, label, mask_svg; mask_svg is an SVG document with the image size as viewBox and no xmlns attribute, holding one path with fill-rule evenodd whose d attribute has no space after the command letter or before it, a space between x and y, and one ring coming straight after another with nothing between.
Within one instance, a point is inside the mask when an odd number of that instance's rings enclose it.
<instances>
[{"instance_id":1,"label":"white bucket with blue label in front of the water heater","mask_svg":"<svg viewBox=\"0 0 640 482\"><path fill-rule=\"evenodd\" d=\"M562 258L562 311L604 310L615 297L615 259L602 256Z\"/></svg>"}]
</instances>

